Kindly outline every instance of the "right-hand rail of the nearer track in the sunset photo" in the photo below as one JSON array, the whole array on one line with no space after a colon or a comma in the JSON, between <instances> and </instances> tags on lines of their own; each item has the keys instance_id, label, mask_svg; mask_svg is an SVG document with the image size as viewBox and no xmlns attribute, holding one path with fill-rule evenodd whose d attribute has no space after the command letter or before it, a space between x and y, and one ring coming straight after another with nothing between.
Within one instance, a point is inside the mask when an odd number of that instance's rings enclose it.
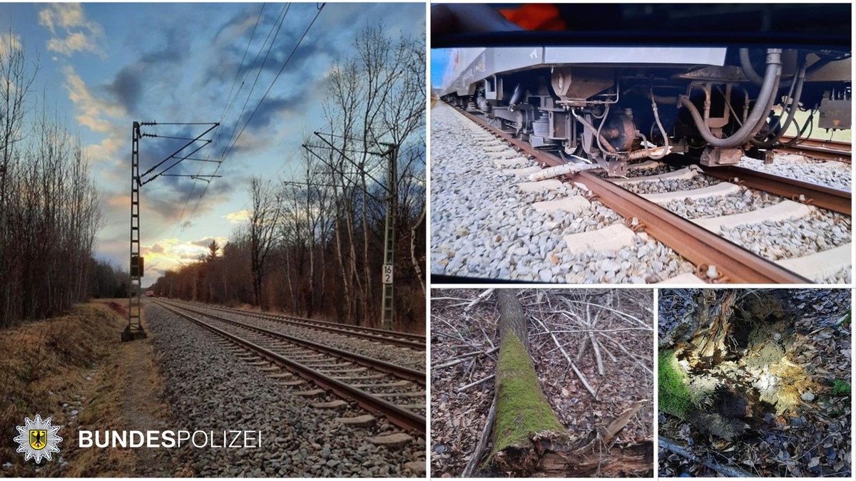
<instances>
[{"instance_id":1,"label":"right-hand rail of the nearer track in the sunset photo","mask_svg":"<svg viewBox=\"0 0 856 481\"><path fill-rule=\"evenodd\" d=\"M169 304L167 302L163 302L163 300L156 301L159 304ZM223 321L224 323L234 324L236 326L240 326L244 329L254 330L256 332L262 333L265 336L276 337L277 339L282 339L282 341L288 341L293 344L298 344L300 346L309 347L314 351L318 351L325 354L330 354L333 357L339 359L346 359L348 361L353 362L357 365L362 365L364 367L371 368L375 371L381 371L386 374L400 377L401 379L406 379L407 381L412 381L413 383L417 383L420 386L425 386L425 371L418 371L416 369L412 369L409 367L405 367L403 365L393 364L381 359L374 359L368 356L364 356L358 353L351 353L345 351L343 349L339 349L336 347L325 346L324 344L319 344L318 342L309 341L307 339L303 339L297 336L289 336L288 334L283 334L282 332L276 332L276 330L265 329L261 326L254 326L253 324L242 323L241 321L237 321L235 319L223 318L222 316L217 316L217 314L211 314L209 312L202 312L199 309L193 309L193 307L188 306L176 306L175 304L169 304L170 306L174 306L177 309L184 309L188 312L194 312L196 314L201 314L203 316L207 316L209 318L214 318L219 321Z\"/></svg>"}]
</instances>

